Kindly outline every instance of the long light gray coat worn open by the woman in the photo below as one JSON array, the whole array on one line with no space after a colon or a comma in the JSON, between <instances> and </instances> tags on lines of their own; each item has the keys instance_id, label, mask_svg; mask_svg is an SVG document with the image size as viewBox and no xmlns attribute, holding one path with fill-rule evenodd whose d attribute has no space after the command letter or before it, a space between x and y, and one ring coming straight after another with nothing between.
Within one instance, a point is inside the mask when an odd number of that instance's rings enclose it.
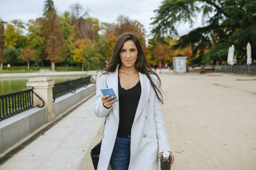
<instances>
[{"instance_id":1,"label":"long light gray coat worn open by the woman","mask_svg":"<svg viewBox=\"0 0 256 170\"><path fill-rule=\"evenodd\" d=\"M149 79L139 73L141 95L135 113L131 130L131 158L129 169L157 169L158 153L171 151L162 112L161 102L158 100ZM155 75L151 78L158 83ZM118 125L119 103L114 103L109 109L102 105L102 88L113 88L118 98L118 67L115 72L102 75L98 73L97 91L93 111L98 117L107 117L105 130L102 135L98 170L108 168L114 148ZM158 86L158 85L157 85ZM132 100L132 99L131 99Z\"/></svg>"}]
</instances>

